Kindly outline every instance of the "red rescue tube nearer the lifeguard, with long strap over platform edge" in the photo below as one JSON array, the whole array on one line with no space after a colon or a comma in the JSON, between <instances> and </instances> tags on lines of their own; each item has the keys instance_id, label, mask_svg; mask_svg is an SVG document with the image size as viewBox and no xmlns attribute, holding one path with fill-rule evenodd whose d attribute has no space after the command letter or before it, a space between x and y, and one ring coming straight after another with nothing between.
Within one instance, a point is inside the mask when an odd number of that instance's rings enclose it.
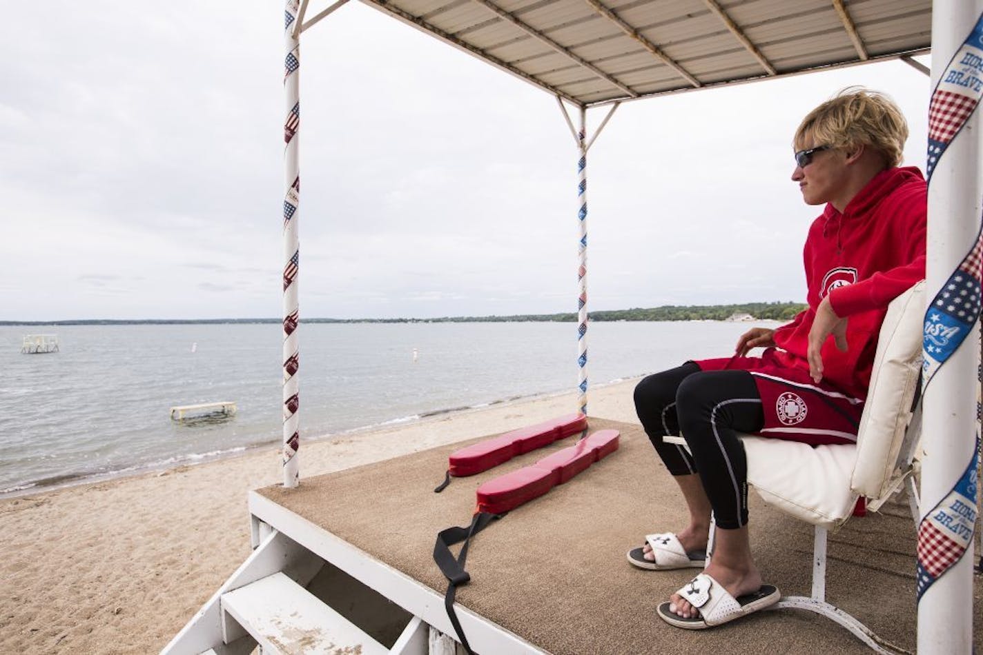
<instances>
[{"instance_id":1,"label":"red rescue tube nearer the lifeguard, with long strap over platform edge","mask_svg":"<svg viewBox=\"0 0 983 655\"><path fill-rule=\"evenodd\" d=\"M599 430L536 464L499 475L478 487L478 510L501 514L528 503L563 484L618 447L617 430Z\"/></svg>"}]
</instances>

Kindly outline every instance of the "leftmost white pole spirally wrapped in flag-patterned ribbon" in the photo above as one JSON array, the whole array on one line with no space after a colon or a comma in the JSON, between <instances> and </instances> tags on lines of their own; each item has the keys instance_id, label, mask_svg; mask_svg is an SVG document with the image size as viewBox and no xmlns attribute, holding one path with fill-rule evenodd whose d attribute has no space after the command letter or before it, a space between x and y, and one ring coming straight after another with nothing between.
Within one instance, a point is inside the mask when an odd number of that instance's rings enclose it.
<instances>
[{"instance_id":1,"label":"leftmost white pole spirally wrapped in flag-patterned ribbon","mask_svg":"<svg viewBox=\"0 0 983 655\"><path fill-rule=\"evenodd\" d=\"M297 233L297 208L300 204L300 156L298 132L301 122L300 104L300 40L294 35L298 0L287 0L284 13L283 40L286 49L283 71L283 90L286 97L286 118L283 124L284 198L283 198L283 486L296 487L300 481L297 449L300 448L298 420L299 366L297 323L300 316L297 293L300 239Z\"/></svg>"}]
</instances>

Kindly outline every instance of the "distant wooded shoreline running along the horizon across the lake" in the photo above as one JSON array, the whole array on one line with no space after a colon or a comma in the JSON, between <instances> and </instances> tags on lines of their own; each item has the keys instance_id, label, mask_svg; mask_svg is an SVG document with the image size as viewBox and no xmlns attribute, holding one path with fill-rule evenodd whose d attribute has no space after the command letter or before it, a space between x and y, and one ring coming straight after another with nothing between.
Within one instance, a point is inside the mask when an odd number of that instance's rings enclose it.
<instances>
[{"instance_id":1,"label":"distant wooded shoreline running along the horizon across the lake","mask_svg":"<svg viewBox=\"0 0 983 655\"><path fill-rule=\"evenodd\" d=\"M800 302L748 302L745 304L666 304L661 307L634 307L591 311L592 321L723 321L735 314L749 314L758 320L786 321L805 309ZM442 318L302 318L302 323L502 323L502 322L574 322L577 314L513 314L510 316L445 316ZM0 321L0 325L187 325L227 323L279 323L279 318L206 318L111 320L82 319L65 321Z\"/></svg>"}]
</instances>

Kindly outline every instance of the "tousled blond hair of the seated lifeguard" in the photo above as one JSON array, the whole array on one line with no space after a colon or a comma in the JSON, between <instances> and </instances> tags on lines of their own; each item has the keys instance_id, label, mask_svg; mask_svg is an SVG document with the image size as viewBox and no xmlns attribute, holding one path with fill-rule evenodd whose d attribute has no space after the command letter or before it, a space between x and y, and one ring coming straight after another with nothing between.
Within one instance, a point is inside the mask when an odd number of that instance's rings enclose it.
<instances>
[{"instance_id":1,"label":"tousled blond hair of the seated lifeguard","mask_svg":"<svg viewBox=\"0 0 983 655\"><path fill-rule=\"evenodd\" d=\"M792 139L793 147L801 150L809 136L813 146L870 145L884 155L888 166L897 166L908 138L908 124L888 95L850 86L802 119Z\"/></svg>"}]
</instances>

